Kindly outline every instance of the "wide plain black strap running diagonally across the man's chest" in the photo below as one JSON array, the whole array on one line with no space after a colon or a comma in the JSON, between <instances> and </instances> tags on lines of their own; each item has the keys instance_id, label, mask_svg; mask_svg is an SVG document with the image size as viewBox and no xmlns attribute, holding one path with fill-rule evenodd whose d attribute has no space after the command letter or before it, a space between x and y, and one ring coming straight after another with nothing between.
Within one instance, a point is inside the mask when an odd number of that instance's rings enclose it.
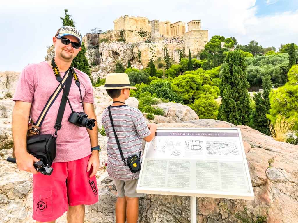
<instances>
[{"instance_id":1,"label":"wide plain black strap running diagonally across the man's chest","mask_svg":"<svg viewBox=\"0 0 298 223\"><path fill-rule=\"evenodd\" d=\"M61 81L60 81L60 85L62 87ZM69 73L67 78L66 78L66 81L65 81L65 88L62 87L63 95L62 95L62 98L61 98L61 102L60 102L60 106L59 106L59 110L58 110L58 114L57 114L57 119L56 119L56 123L55 123L55 126L54 126L54 128L56 129L56 131L54 133L54 136L56 135L55 137L57 137L57 132L62 126L61 122L62 122L63 114L64 114L64 111L65 111L65 107L66 107L66 101L67 100L69 101L68 95L69 95L71 85L72 85L72 75ZM72 109L72 107L71 107L71 109Z\"/></svg>"}]
</instances>

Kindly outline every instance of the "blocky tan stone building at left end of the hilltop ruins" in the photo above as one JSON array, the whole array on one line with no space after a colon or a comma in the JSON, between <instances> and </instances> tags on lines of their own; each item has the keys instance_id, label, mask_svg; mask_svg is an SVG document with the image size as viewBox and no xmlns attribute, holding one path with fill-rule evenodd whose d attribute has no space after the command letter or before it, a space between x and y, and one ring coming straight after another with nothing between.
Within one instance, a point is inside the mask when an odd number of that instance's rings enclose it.
<instances>
[{"instance_id":1,"label":"blocky tan stone building at left end of the hilltop ruins","mask_svg":"<svg viewBox=\"0 0 298 223\"><path fill-rule=\"evenodd\" d=\"M151 25L146 17L125 15L114 21L114 29L151 32Z\"/></svg>"}]
</instances>

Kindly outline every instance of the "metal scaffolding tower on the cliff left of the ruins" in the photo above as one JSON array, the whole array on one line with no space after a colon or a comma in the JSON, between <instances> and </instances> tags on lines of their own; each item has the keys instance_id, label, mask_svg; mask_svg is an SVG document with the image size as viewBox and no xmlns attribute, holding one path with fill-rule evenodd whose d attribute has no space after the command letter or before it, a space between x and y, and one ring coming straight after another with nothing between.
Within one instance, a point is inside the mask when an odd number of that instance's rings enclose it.
<instances>
[{"instance_id":1,"label":"metal scaffolding tower on the cliff left of the ruins","mask_svg":"<svg viewBox=\"0 0 298 223\"><path fill-rule=\"evenodd\" d=\"M99 52L99 34L103 31L101 29L91 29L90 33L87 33L88 48L93 49L93 56L91 59L92 65L100 65L103 60L102 54Z\"/></svg>"}]
</instances>

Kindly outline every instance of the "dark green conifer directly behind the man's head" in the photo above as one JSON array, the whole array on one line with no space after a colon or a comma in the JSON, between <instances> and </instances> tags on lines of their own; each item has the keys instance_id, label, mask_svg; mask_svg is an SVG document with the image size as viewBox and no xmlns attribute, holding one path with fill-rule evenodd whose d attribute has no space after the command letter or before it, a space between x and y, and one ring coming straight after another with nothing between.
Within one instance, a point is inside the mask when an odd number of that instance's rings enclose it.
<instances>
[{"instance_id":1,"label":"dark green conifer directly behind the man's head","mask_svg":"<svg viewBox=\"0 0 298 223\"><path fill-rule=\"evenodd\" d=\"M65 17L60 17L60 19L62 20L62 24L63 26L72 26L75 27L75 22L72 20L71 15L67 14L68 10L65 9ZM90 78L90 68L89 68L89 63L88 63L88 59L85 56L86 53L86 47L84 45L84 43L82 42L82 50L77 54L77 56L72 60L72 66L83 71L84 73L86 73L89 78ZM91 79L91 78L90 78Z\"/></svg>"}]
</instances>

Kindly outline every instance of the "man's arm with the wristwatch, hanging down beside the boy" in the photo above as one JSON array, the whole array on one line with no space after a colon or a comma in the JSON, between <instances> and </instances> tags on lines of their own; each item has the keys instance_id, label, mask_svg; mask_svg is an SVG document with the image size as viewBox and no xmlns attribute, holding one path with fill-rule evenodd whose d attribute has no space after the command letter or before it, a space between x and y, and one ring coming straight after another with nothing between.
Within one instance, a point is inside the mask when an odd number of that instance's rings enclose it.
<instances>
[{"instance_id":1,"label":"man's arm with the wristwatch, hanging down beside the boy","mask_svg":"<svg viewBox=\"0 0 298 223\"><path fill-rule=\"evenodd\" d=\"M88 118L96 120L96 115L94 112L93 104L86 103L86 102L84 102L83 104L84 104L84 112L88 115ZM97 128L98 128L97 121L95 122L95 125L92 128L92 130L87 128L87 132L88 132L89 138L90 138L91 147L98 146L98 129ZM91 150L91 148L90 148L90 150ZM96 174L97 169L99 167L99 152L98 152L98 150L92 151L92 155L90 156L89 162L88 162L87 172L89 172L91 165L92 165L93 169L92 169L90 178Z\"/></svg>"}]
</instances>

